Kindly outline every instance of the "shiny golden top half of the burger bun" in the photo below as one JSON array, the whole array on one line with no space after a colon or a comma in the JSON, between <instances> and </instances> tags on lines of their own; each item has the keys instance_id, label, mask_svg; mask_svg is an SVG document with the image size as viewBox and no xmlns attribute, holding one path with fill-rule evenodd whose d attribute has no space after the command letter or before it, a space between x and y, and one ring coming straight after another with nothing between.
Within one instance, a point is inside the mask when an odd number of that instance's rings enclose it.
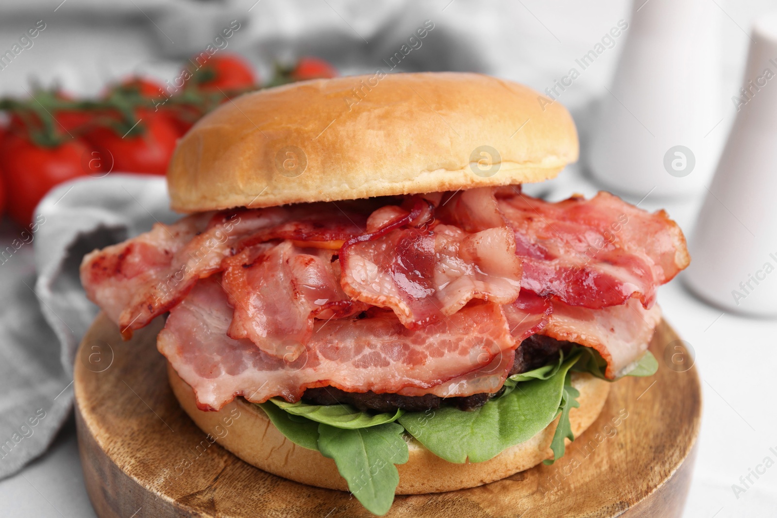
<instances>
[{"instance_id":1,"label":"shiny golden top half of the burger bun","mask_svg":"<svg viewBox=\"0 0 777 518\"><path fill-rule=\"evenodd\" d=\"M467 73L320 79L223 103L178 143L183 212L534 183L577 160L559 103Z\"/></svg>"}]
</instances>

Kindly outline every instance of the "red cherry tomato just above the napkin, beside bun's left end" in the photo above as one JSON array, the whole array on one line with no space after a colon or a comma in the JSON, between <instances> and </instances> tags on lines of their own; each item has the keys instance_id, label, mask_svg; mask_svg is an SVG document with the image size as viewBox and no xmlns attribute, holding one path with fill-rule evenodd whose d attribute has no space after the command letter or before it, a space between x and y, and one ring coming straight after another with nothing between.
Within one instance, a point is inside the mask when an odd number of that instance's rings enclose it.
<instances>
[{"instance_id":1,"label":"red cherry tomato just above the napkin, beside bun's left end","mask_svg":"<svg viewBox=\"0 0 777 518\"><path fill-rule=\"evenodd\" d=\"M111 127L95 127L84 138L98 150L105 150L116 172L145 172L164 175L172 151L176 148L178 132L166 116L153 110L138 111L142 134L117 134Z\"/></svg>"}]
</instances>

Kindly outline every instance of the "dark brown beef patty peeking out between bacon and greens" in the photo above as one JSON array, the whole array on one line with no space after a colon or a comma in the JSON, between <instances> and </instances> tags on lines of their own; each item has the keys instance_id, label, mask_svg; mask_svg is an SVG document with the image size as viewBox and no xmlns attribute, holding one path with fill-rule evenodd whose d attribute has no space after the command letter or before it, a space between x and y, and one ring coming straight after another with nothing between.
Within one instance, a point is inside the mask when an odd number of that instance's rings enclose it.
<instances>
[{"instance_id":1,"label":"dark brown beef patty peeking out between bacon and greens","mask_svg":"<svg viewBox=\"0 0 777 518\"><path fill-rule=\"evenodd\" d=\"M531 335L521 342L515 350L515 360L510 374L521 374L528 370L559 359L559 350L569 351L572 342L559 342L549 336ZM408 412L423 412L441 405L454 405L461 410L474 410L485 404L490 398L501 394L480 393L463 398L441 398L434 394L423 396L403 396L399 394L375 394L375 392L346 392L334 387L308 388L302 395L302 401L311 405L336 405L347 403L359 410L373 412L396 412L404 408Z\"/></svg>"}]
</instances>

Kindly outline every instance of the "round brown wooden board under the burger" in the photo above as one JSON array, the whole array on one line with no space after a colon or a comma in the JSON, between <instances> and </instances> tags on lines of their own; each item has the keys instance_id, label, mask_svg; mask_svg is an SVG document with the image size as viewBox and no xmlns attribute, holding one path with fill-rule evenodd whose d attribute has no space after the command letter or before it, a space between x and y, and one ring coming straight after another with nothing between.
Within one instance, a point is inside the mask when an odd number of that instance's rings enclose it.
<instances>
[{"instance_id":1,"label":"round brown wooden board under the burger","mask_svg":"<svg viewBox=\"0 0 777 518\"><path fill-rule=\"evenodd\" d=\"M100 518L372 516L347 492L270 475L218 443L203 447L205 433L179 407L156 350L162 324L122 342L99 315L78 350L78 443ZM699 433L699 377L665 322L650 350L657 374L613 384L599 419L556 464L477 488L397 496L387 516L680 516Z\"/></svg>"}]
</instances>

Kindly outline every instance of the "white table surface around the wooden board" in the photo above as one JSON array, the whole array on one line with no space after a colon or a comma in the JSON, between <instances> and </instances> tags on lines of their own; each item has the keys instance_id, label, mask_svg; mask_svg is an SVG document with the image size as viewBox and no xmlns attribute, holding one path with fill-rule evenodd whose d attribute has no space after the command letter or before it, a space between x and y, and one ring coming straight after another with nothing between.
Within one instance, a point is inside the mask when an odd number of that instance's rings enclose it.
<instances>
[{"instance_id":1,"label":"white table surface around the wooden board","mask_svg":"<svg viewBox=\"0 0 777 518\"><path fill-rule=\"evenodd\" d=\"M596 190L575 169L564 176L551 183L552 199L573 192L591 195ZM547 189L547 184L537 188ZM640 207L666 207L688 234L699 201L649 196ZM660 288L659 302L667 321L695 349L702 377L702 431L685 516L775 516L777 468L768 469L758 480L751 478L754 484L738 499L731 485L740 484L740 476L747 476L764 457L777 460L769 451L770 447L777 450L777 416L770 397L777 363L777 321L724 313L689 294L680 279ZM95 516L83 485L73 419L46 454L0 481L0 502L0 515L8 518ZM145 516L142 510L137 518L141 516Z\"/></svg>"}]
</instances>

